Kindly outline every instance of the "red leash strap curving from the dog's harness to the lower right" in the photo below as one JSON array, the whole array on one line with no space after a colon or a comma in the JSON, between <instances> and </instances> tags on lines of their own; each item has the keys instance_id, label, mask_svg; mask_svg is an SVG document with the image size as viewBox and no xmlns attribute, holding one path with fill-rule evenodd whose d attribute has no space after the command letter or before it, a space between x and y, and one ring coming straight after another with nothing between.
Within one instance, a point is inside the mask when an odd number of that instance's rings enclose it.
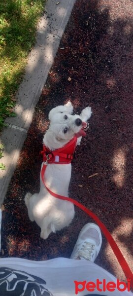
<instances>
[{"instance_id":1,"label":"red leash strap curving from the dog's harness to the lower right","mask_svg":"<svg viewBox=\"0 0 133 296\"><path fill-rule=\"evenodd\" d=\"M92 211L90 211L89 209L87 209L84 205L80 204L78 201L70 198L70 197L66 197L66 196L62 196L62 195L59 195L53 191L51 191L47 186L46 186L46 183L44 181L44 173L45 173L45 170L46 170L46 167L47 165L46 164L43 164L43 167L42 167L42 170L41 170L41 179L42 179L42 182L43 184L45 185L46 189L48 190L48 192L53 195L54 197L56 198L59 198L59 199L63 199L63 200L66 200L66 201L69 201L71 203L73 203L75 206L77 206L78 208L80 208L81 210L83 210L85 213L87 213L91 218L93 218L97 224L99 225L100 229L102 230L104 236L106 237L107 241L109 242L118 262L120 263L124 273L125 273L125 276L127 279L130 279L131 280L131 287L133 288L133 272L131 271L127 261L125 260L125 258L123 257L120 249L118 248L115 240L113 239L112 235L110 234L110 232L107 230L107 228L105 227L105 225L100 221L100 219L98 218L97 215L95 215Z\"/></svg>"}]
</instances>

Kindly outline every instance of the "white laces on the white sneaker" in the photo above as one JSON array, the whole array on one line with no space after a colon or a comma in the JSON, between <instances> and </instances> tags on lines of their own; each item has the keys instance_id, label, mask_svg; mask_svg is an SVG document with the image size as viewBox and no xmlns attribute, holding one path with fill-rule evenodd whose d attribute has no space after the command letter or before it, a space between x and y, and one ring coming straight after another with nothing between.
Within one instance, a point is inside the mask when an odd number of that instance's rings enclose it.
<instances>
[{"instance_id":1,"label":"white laces on the white sneaker","mask_svg":"<svg viewBox=\"0 0 133 296\"><path fill-rule=\"evenodd\" d=\"M84 245L82 245L82 248L78 250L78 254L80 257L83 257L86 260L91 260L94 250L95 245L85 241Z\"/></svg>"}]
</instances>

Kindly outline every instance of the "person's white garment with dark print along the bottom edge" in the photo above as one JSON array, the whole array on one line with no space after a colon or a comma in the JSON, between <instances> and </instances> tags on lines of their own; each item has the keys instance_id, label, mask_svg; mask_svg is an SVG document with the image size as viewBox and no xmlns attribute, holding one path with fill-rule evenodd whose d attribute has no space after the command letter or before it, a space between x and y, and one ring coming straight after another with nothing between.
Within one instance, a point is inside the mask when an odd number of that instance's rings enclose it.
<instances>
[{"instance_id":1,"label":"person's white garment with dark print along the bottom edge","mask_svg":"<svg viewBox=\"0 0 133 296\"><path fill-rule=\"evenodd\" d=\"M2 269L4 267L4 269ZM6 282L7 289L15 289L16 283L20 286L23 278L23 282L25 281L25 290L27 289L28 285L27 282L33 283L34 281L38 282L37 278L42 279L41 287L44 287L47 291L44 294L39 294L35 292L34 294L24 293L23 295L51 295L51 296L75 296L76 292L79 296L85 295L106 295L106 296L133 296L133 293L128 292L119 292L118 289L115 289L114 292L100 292L95 289L94 292L89 292L83 285L76 284L78 290L84 291L79 292L76 291L76 286L74 281L77 282L94 282L96 283L97 279L103 281L103 279L107 282L114 282L116 283L117 279L101 268L100 266L92 263L91 261L87 260L74 260L74 259L66 259L66 258L57 258L51 259L46 261L31 261L27 259L19 259L19 258L4 258L0 259L0 270L5 270L0 272L0 285L4 286L3 282ZM17 271L17 272L15 272ZM24 279L24 275L28 274L26 279ZM6 279L4 275L6 274ZM22 277L22 278L21 278ZM35 279L35 280L34 280ZM45 283L44 283L45 281ZM13 284L12 284L13 283ZM34 282L35 283L35 282ZM0 286L0 296L6 296L6 292L1 290ZM100 285L102 288L102 285ZM3 292L1 292L3 291ZM14 290L15 291L15 290ZM37 290L36 290L37 291ZM47 294L49 292L49 294ZM19 293L15 294L14 296L19 296ZM36 294L35 294L36 293ZM10 295L10 294L7 294Z\"/></svg>"}]
</instances>

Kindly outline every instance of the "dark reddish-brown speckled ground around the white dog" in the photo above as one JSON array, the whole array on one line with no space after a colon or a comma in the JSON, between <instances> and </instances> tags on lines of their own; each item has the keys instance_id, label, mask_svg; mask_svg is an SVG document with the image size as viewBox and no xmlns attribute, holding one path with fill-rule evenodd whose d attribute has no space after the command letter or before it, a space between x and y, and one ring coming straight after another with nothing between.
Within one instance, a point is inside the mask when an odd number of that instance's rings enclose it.
<instances>
[{"instance_id":1,"label":"dark reddish-brown speckled ground around the white dog","mask_svg":"<svg viewBox=\"0 0 133 296\"><path fill-rule=\"evenodd\" d=\"M75 153L69 196L99 216L133 267L132 16L132 0L76 1L4 201L1 257L69 257L92 221L76 208L72 224L44 241L24 204L27 191L39 190L48 112L70 99L76 112L89 105L93 116ZM96 263L124 278L104 237Z\"/></svg>"}]
</instances>

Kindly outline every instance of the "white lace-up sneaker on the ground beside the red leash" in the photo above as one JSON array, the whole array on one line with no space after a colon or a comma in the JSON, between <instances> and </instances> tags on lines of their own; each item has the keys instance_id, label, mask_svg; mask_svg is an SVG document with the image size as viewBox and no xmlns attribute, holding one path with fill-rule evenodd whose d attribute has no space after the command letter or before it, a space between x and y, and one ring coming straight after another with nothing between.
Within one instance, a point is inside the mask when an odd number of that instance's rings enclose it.
<instances>
[{"instance_id":1,"label":"white lace-up sneaker on the ground beside the red leash","mask_svg":"<svg viewBox=\"0 0 133 296\"><path fill-rule=\"evenodd\" d=\"M70 258L94 262L100 252L101 242L100 227L94 223L85 224L79 233Z\"/></svg>"}]
</instances>

